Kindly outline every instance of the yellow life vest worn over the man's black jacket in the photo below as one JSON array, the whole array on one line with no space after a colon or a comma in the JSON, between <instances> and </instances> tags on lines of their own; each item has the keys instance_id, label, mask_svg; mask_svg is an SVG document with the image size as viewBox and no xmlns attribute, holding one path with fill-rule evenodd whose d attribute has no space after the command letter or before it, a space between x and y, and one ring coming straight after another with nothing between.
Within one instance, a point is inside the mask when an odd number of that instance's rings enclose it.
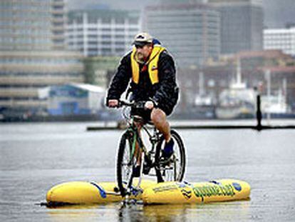
<instances>
[{"instance_id":1,"label":"yellow life vest worn over the man's black jacket","mask_svg":"<svg viewBox=\"0 0 295 222\"><path fill-rule=\"evenodd\" d=\"M162 51L164 51L165 48L160 45L155 45L152 48L152 53L150 54L150 59L145 64L148 66L148 74L150 76L150 81L153 84L157 84L159 82L159 78L157 76L157 62L159 61L159 56ZM138 84L139 82L139 75L140 75L140 69L138 61L135 59L135 52L136 48L133 48L133 51L131 53L131 68L132 68L132 80L135 84Z\"/></svg>"}]
</instances>

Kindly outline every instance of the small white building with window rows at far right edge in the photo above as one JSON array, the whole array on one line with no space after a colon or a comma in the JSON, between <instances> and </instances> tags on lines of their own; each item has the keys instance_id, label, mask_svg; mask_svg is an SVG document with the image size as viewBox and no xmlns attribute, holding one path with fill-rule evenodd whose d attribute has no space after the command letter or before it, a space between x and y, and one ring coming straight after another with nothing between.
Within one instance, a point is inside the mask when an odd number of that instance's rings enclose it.
<instances>
[{"instance_id":1,"label":"small white building with window rows at far right edge","mask_svg":"<svg viewBox=\"0 0 295 222\"><path fill-rule=\"evenodd\" d=\"M264 49L281 49L295 56L295 27L290 29L264 29Z\"/></svg>"}]
</instances>

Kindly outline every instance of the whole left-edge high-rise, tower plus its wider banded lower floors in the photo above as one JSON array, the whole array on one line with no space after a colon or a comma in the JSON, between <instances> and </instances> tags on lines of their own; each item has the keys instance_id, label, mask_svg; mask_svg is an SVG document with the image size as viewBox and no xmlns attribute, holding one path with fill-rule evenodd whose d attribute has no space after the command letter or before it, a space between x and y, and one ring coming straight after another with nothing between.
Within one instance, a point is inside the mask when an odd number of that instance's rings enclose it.
<instances>
[{"instance_id":1,"label":"whole left-edge high-rise, tower plus its wider banded lower floors","mask_svg":"<svg viewBox=\"0 0 295 222\"><path fill-rule=\"evenodd\" d=\"M0 112L46 109L38 89L83 82L80 54L65 51L65 0L0 1Z\"/></svg>"}]
</instances>

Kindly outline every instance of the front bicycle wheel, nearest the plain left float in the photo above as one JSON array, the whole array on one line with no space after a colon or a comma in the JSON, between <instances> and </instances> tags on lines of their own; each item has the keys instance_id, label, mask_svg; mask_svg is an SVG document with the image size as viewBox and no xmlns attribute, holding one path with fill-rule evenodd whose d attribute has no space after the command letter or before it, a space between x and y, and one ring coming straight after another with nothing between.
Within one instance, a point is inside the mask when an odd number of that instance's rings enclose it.
<instances>
[{"instance_id":1,"label":"front bicycle wheel, nearest the plain left float","mask_svg":"<svg viewBox=\"0 0 295 222\"><path fill-rule=\"evenodd\" d=\"M117 182L121 196L127 194L128 188L133 183L133 168L136 159L132 154L133 135L126 131L120 138L120 145L117 158Z\"/></svg>"}]
</instances>

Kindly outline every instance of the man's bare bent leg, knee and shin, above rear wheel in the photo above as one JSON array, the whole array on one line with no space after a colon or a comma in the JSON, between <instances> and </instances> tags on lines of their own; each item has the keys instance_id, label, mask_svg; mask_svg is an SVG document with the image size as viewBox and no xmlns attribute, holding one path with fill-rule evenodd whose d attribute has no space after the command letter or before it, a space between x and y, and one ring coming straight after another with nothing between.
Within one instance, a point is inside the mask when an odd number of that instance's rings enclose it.
<instances>
[{"instance_id":1,"label":"man's bare bent leg, knee and shin, above rear wheel","mask_svg":"<svg viewBox=\"0 0 295 222\"><path fill-rule=\"evenodd\" d=\"M154 123L155 128L157 128L164 136L165 141L169 142L171 138L170 125L166 118L166 113L162 109L152 109L150 114L150 119Z\"/></svg>"}]
</instances>

